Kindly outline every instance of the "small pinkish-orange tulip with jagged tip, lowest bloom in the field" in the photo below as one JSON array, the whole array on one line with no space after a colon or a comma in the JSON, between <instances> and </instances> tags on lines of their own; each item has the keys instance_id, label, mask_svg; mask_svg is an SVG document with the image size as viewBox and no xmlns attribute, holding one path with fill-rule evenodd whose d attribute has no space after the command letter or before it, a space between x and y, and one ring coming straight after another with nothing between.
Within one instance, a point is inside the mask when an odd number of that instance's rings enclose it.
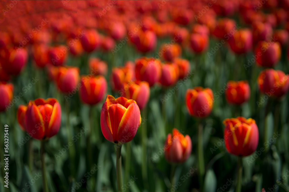
<instances>
[{"instance_id":1,"label":"small pinkish-orange tulip with jagged tip, lowest bloom in the field","mask_svg":"<svg viewBox=\"0 0 289 192\"><path fill-rule=\"evenodd\" d=\"M173 128L173 136L168 134L164 146L164 156L169 163L183 163L192 152L190 136L184 136L176 128Z\"/></svg>"}]
</instances>

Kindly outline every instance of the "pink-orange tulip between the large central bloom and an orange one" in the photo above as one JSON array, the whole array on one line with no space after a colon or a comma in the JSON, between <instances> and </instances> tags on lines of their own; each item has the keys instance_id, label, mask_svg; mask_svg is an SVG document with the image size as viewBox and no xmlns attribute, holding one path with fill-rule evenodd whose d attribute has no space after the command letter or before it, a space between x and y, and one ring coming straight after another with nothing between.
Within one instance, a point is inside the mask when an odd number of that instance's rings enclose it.
<instances>
[{"instance_id":1,"label":"pink-orange tulip between the large central bloom and an orange one","mask_svg":"<svg viewBox=\"0 0 289 192\"><path fill-rule=\"evenodd\" d=\"M177 64L162 64L160 83L164 86L174 85L179 79L179 67Z\"/></svg>"}]
</instances>

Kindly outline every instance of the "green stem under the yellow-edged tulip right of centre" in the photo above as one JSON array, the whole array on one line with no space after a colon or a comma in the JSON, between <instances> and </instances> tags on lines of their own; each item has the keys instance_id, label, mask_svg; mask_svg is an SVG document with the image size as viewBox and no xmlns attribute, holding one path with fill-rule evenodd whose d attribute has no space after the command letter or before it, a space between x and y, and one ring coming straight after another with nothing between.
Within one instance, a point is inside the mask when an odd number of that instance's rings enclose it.
<instances>
[{"instance_id":1,"label":"green stem under the yellow-edged tulip right of centre","mask_svg":"<svg viewBox=\"0 0 289 192\"><path fill-rule=\"evenodd\" d=\"M198 160L199 160L199 179L200 188L203 188L203 179L205 174L205 162L204 162L204 149L203 149L203 125L201 120L198 119Z\"/></svg>"}]
</instances>

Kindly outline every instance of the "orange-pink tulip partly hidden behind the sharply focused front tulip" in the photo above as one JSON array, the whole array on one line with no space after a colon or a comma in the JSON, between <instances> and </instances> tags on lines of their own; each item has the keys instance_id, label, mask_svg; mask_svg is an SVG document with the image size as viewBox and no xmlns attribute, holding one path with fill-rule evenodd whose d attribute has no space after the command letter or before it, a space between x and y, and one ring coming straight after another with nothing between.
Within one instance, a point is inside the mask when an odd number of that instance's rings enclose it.
<instances>
[{"instance_id":1,"label":"orange-pink tulip partly hidden behind the sharply focused front tulip","mask_svg":"<svg viewBox=\"0 0 289 192\"><path fill-rule=\"evenodd\" d=\"M149 100L149 83L146 81L125 82L120 94L127 99L135 100L140 110L142 110Z\"/></svg>"}]
</instances>

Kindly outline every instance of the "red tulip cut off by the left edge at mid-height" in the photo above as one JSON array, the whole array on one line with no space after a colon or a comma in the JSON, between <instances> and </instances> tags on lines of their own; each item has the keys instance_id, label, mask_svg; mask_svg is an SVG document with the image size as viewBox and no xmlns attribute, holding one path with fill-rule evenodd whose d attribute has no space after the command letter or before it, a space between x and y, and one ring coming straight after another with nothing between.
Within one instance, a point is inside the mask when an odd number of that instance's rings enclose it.
<instances>
[{"instance_id":1,"label":"red tulip cut off by the left edge at mid-height","mask_svg":"<svg viewBox=\"0 0 289 192\"><path fill-rule=\"evenodd\" d=\"M13 84L0 82L0 112L4 111L9 106L13 98Z\"/></svg>"}]
</instances>

